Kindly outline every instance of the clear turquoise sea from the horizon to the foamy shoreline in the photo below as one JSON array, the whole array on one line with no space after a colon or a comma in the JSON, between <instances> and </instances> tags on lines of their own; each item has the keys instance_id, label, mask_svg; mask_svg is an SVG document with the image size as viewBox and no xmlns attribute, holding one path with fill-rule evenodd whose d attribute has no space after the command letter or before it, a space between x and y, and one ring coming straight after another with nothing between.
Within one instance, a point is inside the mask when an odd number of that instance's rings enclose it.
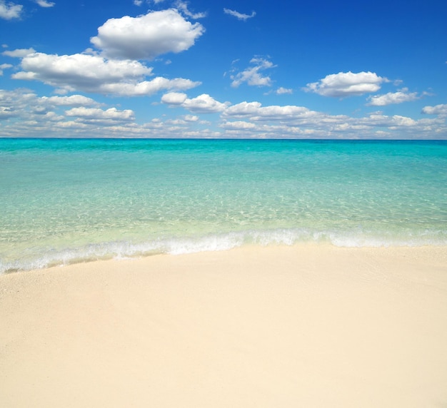
<instances>
[{"instance_id":1,"label":"clear turquoise sea from the horizon to the foamy shoreline","mask_svg":"<svg viewBox=\"0 0 447 408\"><path fill-rule=\"evenodd\" d=\"M239 245L447 245L447 141L0 139L0 272Z\"/></svg>"}]
</instances>

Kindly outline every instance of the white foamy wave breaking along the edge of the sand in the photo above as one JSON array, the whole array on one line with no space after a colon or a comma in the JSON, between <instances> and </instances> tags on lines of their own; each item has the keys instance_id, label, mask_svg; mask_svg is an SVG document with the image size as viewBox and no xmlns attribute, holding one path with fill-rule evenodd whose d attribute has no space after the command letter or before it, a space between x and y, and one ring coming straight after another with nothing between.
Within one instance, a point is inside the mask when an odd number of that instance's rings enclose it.
<instances>
[{"instance_id":1,"label":"white foamy wave breaking along the edge of the sand","mask_svg":"<svg viewBox=\"0 0 447 408\"><path fill-rule=\"evenodd\" d=\"M26 259L2 261L0 273L64 266L94 260L126 259L159 254L180 255L207 251L230 250L243 245L295 245L298 243L326 243L338 247L388 247L447 245L446 231L423 231L418 235L401 237L366 235L361 230L311 231L304 228L275 230L248 230L233 233L210 234L201 237L164 238L141 243L118 241L89 244L63 250L41 250Z\"/></svg>"}]
</instances>

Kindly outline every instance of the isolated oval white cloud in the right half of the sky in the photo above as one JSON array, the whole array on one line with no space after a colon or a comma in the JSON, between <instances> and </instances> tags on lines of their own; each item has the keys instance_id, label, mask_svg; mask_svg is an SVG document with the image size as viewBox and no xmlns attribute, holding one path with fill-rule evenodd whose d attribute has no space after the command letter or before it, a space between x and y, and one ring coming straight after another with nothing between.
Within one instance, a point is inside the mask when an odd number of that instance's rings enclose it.
<instances>
[{"instance_id":1,"label":"isolated oval white cloud in the right half of the sky","mask_svg":"<svg viewBox=\"0 0 447 408\"><path fill-rule=\"evenodd\" d=\"M332 73L318 82L308 83L303 89L322 96L343 98L376 92L383 82L388 82L388 79L373 72L352 73L349 71Z\"/></svg>"}]
</instances>

